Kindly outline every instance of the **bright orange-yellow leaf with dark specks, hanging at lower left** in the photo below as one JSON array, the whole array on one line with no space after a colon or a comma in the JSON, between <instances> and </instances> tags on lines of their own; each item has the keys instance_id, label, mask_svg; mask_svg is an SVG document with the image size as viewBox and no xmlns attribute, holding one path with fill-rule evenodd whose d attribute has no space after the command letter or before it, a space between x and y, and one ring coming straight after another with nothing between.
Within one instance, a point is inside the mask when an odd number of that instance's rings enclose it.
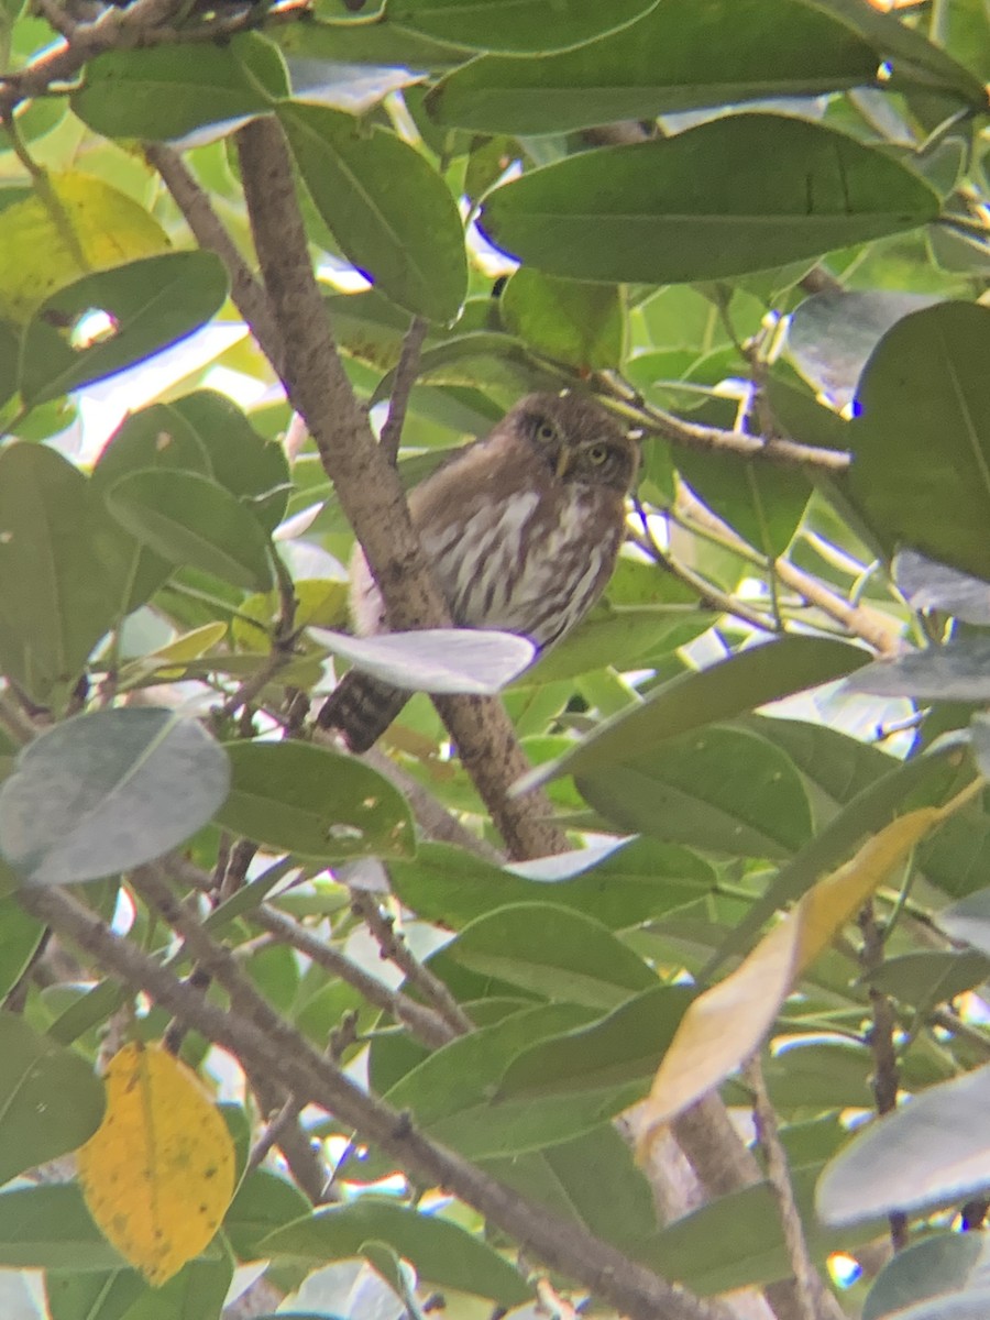
<instances>
[{"instance_id":1,"label":"bright orange-yellow leaf with dark specks, hanging at lower left","mask_svg":"<svg viewBox=\"0 0 990 1320\"><path fill-rule=\"evenodd\" d=\"M79 1150L79 1180L103 1234L158 1287L220 1226L234 1143L195 1073L157 1045L124 1045L106 1082L107 1110Z\"/></svg>"}]
</instances>

